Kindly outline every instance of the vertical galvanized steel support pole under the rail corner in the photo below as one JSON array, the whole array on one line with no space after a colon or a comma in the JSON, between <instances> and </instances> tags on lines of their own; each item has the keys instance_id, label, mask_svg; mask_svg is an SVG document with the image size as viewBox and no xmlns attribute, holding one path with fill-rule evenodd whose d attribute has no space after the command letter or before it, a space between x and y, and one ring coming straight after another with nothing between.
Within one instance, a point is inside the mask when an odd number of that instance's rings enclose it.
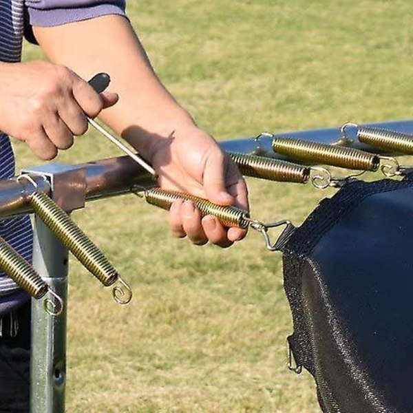
<instances>
[{"instance_id":1,"label":"vertical galvanized steel support pole under the rail corner","mask_svg":"<svg viewBox=\"0 0 413 413\"><path fill-rule=\"evenodd\" d=\"M35 217L33 266L63 299L63 313L52 317L43 299L32 299L31 413L63 413L66 385L68 251L45 224Z\"/></svg>"}]
</instances>

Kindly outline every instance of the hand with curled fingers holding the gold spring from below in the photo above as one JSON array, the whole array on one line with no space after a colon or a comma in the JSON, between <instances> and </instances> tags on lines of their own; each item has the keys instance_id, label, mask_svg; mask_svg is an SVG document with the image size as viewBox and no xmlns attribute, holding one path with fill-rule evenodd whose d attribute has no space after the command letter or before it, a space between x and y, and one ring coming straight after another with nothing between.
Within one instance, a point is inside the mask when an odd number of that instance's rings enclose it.
<instances>
[{"instance_id":1,"label":"hand with curled fingers holding the gold spring from below","mask_svg":"<svg viewBox=\"0 0 413 413\"><path fill-rule=\"evenodd\" d=\"M162 189L248 209L246 184L240 171L217 142L195 126L177 129L169 138L156 140L149 160L159 175ZM200 211L191 201L174 202L169 222L173 235L188 236L196 245L209 241L226 247L246 234L243 229L222 226L212 215L201 219Z\"/></svg>"}]
</instances>

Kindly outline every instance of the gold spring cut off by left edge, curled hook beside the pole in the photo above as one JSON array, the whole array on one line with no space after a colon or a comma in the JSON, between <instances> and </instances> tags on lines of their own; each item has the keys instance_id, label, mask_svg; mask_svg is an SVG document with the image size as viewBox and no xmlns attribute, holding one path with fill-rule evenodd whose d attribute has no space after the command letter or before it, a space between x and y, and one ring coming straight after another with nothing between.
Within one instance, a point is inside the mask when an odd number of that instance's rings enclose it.
<instances>
[{"instance_id":1,"label":"gold spring cut off by left edge, curled hook beside the pole","mask_svg":"<svg viewBox=\"0 0 413 413\"><path fill-rule=\"evenodd\" d=\"M63 300L61 297L56 295L40 275L34 271L34 268L1 237L0 269L35 299L41 299L49 292L54 299L53 301L49 298L45 299L45 310L54 316L62 313Z\"/></svg>"}]
</instances>

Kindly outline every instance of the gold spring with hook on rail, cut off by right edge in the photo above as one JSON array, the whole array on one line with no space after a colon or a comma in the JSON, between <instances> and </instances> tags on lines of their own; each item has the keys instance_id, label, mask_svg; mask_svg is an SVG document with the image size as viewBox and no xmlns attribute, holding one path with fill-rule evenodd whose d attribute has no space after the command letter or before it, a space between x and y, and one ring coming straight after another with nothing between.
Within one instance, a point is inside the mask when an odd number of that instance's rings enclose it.
<instances>
[{"instance_id":1,"label":"gold spring with hook on rail, cut off by right edge","mask_svg":"<svg viewBox=\"0 0 413 413\"><path fill-rule=\"evenodd\" d=\"M349 140L347 136L348 127L357 128L357 138L360 142L385 151L394 151L413 154L413 135L403 134L378 127L359 126L355 123L345 123L341 127L341 136Z\"/></svg>"}]
</instances>

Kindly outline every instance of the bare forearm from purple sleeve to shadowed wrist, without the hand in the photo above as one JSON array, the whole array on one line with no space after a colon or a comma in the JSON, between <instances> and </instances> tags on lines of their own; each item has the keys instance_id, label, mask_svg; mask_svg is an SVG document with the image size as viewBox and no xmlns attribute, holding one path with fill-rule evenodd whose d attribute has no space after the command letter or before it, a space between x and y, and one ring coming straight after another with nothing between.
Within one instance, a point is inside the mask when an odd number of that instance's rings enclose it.
<instances>
[{"instance_id":1,"label":"bare forearm from purple sleeve to shadowed wrist, without the hand","mask_svg":"<svg viewBox=\"0 0 413 413\"><path fill-rule=\"evenodd\" d=\"M119 94L100 118L136 149L149 152L154 137L193 126L193 120L153 72L134 30L120 16L98 17L53 28L34 28L51 61L70 67L83 78L107 72Z\"/></svg>"}]
</instances>

